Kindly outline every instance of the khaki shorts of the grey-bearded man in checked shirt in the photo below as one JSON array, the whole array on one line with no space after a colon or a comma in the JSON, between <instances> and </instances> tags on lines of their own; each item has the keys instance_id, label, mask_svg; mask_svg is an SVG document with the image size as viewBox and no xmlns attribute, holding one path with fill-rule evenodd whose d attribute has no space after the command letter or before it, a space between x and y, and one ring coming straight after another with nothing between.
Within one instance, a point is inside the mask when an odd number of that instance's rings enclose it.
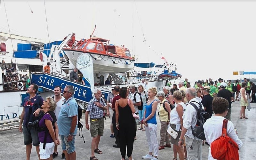
<instances>
[{"instance_id":1,"label":"khaki shorts of the grey-bearded man in checked shirt","mask_svg":"<svg viewBox=\"0 0 256 160\"><path fill-rule=\"evenodd\" d=\"M98 119L92 119L90 118L90 132L91 137L97 137L98 135L103 136L103 130L104 130L104 119L103 117Z\"/></svg>"}]
</instances>

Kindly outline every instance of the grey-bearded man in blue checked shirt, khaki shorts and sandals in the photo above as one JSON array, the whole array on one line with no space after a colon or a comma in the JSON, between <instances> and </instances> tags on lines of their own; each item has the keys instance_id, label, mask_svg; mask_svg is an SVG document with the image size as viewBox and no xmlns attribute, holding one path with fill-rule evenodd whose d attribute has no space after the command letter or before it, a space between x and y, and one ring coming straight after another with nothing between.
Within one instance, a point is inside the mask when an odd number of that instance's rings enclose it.
<instances>
[{"instance_id":1,"label":"grey-bearded man in blue checked shirt, khaki shorts and sandals","mask_svg":"<svg viewBox=\"0 0 256 160\"><path fill-rule=\"evenodd\" d=\"M102 154L98 145L100 143L100 136L103 136L104 130L104 110L107 110L108 107L105 101L101 98L101 89L96 88L93 91L94 98L90 100L88 107L85 112L85 127L86 129L90 129L91 137L92 137L92 145L91 145L91 157L90 159L96 159L94 156L94 152L98 154ZM88 115L90 114L90 124L91 128L88 124Z\"/></svg>"}]
</instances>

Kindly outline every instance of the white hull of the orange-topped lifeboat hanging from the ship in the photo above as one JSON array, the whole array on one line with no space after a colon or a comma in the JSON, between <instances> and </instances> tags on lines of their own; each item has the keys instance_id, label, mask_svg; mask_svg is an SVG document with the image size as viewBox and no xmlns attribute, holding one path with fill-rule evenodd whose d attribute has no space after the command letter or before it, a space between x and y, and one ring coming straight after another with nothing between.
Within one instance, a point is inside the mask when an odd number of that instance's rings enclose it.
<instances>
[{"instance_id":1,"label":"white hull of the orange-topped lifeboat hanging from the ship","mask_svg":"<svg viewBox=\"0 0 256 160\"><path fill-rule=\"evenodd\" d=\"M82 53L89 54L93 59L94 73L123 73L131 70L134 66L134 60L124 60L123 58L116 58L108 55L72 50L65 50L64 52L75 67L79 55ZM113 63L113 61L115 63Z\"/></svg>"}]
</instances>

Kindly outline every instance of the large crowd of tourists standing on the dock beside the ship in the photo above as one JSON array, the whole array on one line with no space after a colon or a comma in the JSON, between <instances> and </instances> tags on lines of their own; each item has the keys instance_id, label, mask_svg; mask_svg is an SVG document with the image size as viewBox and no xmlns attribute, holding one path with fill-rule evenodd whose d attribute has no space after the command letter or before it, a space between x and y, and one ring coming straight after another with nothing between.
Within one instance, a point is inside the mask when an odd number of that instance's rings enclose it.
<instances>
[{"instance_id":1,"label":"large crowd of tourists standing on the dock beside the ship","mask_svg":"<svg viewBox=\"0 0 256 160\"><path fill-rule=\"evenodd\" d=\"M138 130L145 131L148 142L148 154L142 156L142 159L157 160L159 150L172 147L173 160L178 160L178 157L180 160L202 160L202 145L211 145L221 136L225 119L229 120L227 135L236 142L238 148L242 146L234 124L230 121L231 103L240 101L240 118L248 119L245 116L245 108L248 103L255 102L254 83L249 79L244 79L242 83L239 80L236 80L236 83L225 83L219 78L218 82L211 79L205 82L198 80L194 87L191 87L188 79L180 82L178 86L171 85L166 82L159 92L156 87L147 88L146 81L141 82L138 87L134 84L122 88L112 86L112 92L108 94L106 102L101 97L101 90L94 89L94 98L90 100L85 112L85 128L90 130L92 137L89 159L97 160L95 153L103 154L99 143L103 136L105 114L111 117L110 138L116 139L113 147L120 148L122 160L126 155L129 160L134 159L133 143L137 139ZM73 97L74 88L66 86L61 96L61 87L55 86L54 96L47 97L46 100L36 95L37 90L36 84L28 87L29 96L23 101L24 108L20 120L19 130L24 134L27 160L30 159L32 145L36 147L39 159L58 156L57 146L61 145L62 160L75 160L75 135L79 120L78 105ZM247 98L246 93L251 97ZM204 123L204 139L198 138L193 132L197 124L197 109L203 109L209 115L209 119ZM43 116L37 119L42 113ZM141 123L135 121L135 115L140 117ZM157 124L157 118L160 124ZM38 126L36 120L39 120ZM157 125L161 126L160 131L157 131ZM170 130L177 134L171 134ZM214 159L213 156L209 148L208 159Z\"/></svg>"}]
</instances>

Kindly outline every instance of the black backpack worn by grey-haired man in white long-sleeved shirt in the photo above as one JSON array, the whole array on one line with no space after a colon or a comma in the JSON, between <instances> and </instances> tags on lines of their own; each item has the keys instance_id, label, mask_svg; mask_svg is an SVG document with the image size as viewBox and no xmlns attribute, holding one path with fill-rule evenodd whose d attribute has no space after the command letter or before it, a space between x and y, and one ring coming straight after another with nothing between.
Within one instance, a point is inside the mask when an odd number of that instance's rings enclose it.
<instances>
[{"instance_id":1,"label":"black backpack worn by grey-haired man in white long-sleeved shirt","mask_svg":"<svg viewBox=\"0 0 256 160\"><path fill-rule=\"evenodd\" d=\"M192 101L196 102L196 101ZM196 102L199 104L200 109L196 106L194 103L189 103L191 104L195 109L197 113L197 121L196 121L196 126L191 126L192 129L192 134L196 137L199 138L200 140L206 140L205 135L204 135L204 123L206 122L207 119L209 119L211 116L209 113L205 112L205 110L202 108L202 103L201 102Z\"/></svg>"}]
</instances>

